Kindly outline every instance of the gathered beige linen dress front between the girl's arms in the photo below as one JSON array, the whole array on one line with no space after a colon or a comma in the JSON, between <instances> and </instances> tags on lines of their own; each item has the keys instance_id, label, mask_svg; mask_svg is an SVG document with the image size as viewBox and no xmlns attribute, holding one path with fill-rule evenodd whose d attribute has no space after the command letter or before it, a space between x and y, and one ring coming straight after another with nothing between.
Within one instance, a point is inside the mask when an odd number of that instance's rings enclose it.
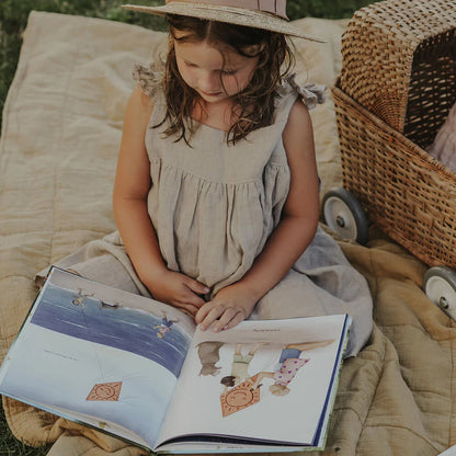
<instances>
[{"instance_id":1,"label":"gathered beige linen dress front between the girl's arms","mask_svg":"<svg viewBox=\"0 0 456 456\"><path fill-rule=\"evenodd\" d=\"M146 71L138 77L149 79ZM168 267L207 285L213 296L246 274L280 220L289 187L282 132L296 98L287 84L276 122L235 147L225 132L200 124L189 148L162 138L166 125L151 128L166 114L162 89L153 96L146 134L149 216Z\"/></svg>"}]
</instances>

